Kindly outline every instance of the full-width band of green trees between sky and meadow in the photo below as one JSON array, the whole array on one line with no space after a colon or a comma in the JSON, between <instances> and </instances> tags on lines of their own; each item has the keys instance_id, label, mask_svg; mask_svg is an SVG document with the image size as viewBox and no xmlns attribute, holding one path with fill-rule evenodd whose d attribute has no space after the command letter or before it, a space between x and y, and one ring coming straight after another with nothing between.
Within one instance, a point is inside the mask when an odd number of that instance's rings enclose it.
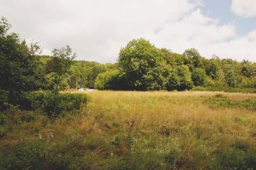
<instances>
[{"instance_id":1,"label":"full-width band of green trees between sky and meadow","mask_svg":"<svg viewBox=\"0 0 256 170\"><path fill-rule=\"evenodd\" d=\"M75 61L69 46L41 56L38 43L28 45L0 19L0 101L15 104L22 93L67 88L99 90L190 90L195 87L253 88L255 63L202 57L191 48L177 54L134 39L121 48L117 63ZM1 106L0 106L1 107Z\"/></svg>"}]
</instances>

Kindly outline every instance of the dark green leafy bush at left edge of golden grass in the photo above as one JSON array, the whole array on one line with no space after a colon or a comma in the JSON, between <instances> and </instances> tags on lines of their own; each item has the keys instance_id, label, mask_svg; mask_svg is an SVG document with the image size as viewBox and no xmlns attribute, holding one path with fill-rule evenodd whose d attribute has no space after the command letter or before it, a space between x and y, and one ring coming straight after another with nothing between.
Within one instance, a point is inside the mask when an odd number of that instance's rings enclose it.
<instances>
[{"instance_id":1,"label":"dark green leafy bush at left edge of golden grass","mask_svg":"<svg viewBox=\"0 0 256 170\"><path fill-rule=\"evenodd\" d=\"M50 117L76 112L82 105L86 105L85 94L37 92L30 93L26 97L26 104L23 107L41 109Z\"/></svg>"}]
</instances>

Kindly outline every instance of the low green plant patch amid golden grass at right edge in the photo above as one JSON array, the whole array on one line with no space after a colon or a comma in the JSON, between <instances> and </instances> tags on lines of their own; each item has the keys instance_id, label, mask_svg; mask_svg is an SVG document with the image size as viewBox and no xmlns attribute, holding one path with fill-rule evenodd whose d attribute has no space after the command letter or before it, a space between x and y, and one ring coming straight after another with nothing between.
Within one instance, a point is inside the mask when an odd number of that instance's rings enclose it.
<instances>
[{"instance_id":1,"label":"low green plant patch amid golden grass at right edge","mask_svg":"<svg viewBox=\"0 0 256 170\"><path fill-rule=\"evenodd\" d=\"M215 98L207 99L206 103L218 107L242 107L246 109L256 110L256 100L254 99L246 99L242 101L231 100L217 94Z\"/></svg>"}]
</instances>

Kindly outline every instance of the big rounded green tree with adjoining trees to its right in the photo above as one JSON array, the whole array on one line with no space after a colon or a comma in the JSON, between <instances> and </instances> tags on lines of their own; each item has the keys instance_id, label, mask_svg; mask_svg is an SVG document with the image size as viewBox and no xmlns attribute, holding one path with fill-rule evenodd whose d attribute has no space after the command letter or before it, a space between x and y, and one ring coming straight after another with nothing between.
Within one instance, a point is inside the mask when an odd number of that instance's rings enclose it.
<instances>
[{"instance_id":1,"label":"big rounded green tree with adjoining trees to its right","mask_svg":"<svg viewBox=\"0 0 256 170\"><path fill-rule=\"evenodd\" d=\"M220 60L217 56L207 60L195 48L185 50L183 55L176 54L169 49L158 49L144 39L132 40L121 48L117 64L120 75L117 77L121 77L122 81L113 78L111 85L104 87L112 79L112 71L106 72L105 76L102 76L104 73L100 75L97 88L182 91L190 90L193 86L204 86L193 89L247 92L248 89L240 89L254 85L250 62Z\"/></svg>"}]
</instances>

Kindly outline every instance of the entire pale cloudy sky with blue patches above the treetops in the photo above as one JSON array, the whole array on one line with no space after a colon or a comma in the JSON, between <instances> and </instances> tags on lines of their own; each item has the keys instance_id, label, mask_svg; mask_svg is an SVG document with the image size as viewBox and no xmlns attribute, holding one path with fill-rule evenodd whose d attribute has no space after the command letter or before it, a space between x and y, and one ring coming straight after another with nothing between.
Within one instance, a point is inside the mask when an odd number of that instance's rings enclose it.
<instances>
[{"instance_id":1,"label":"entire pale cloudy sky with blue patches above the treetops","mask_svg":"<svg viewBox=\"0 0 256 170\"><path fill-rule=\"evenodd\" d=\"M135 38L176 53L256 62L256 0L0 0L11 31L43 54L70 45L77 60L116 62Z\"/></svg>"}]
</instances>

